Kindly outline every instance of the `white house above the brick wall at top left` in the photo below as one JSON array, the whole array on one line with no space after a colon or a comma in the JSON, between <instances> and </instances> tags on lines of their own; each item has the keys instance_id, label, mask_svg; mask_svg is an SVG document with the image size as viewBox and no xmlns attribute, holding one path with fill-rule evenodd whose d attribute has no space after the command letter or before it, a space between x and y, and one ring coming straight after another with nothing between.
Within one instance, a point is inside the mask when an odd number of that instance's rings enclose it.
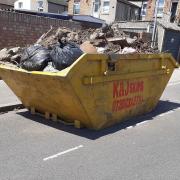
<instances>
[{"instance_id":1,"label":"white house above the brick wall at top left","mask_svg":"<svg viewBox=\"0 0 180 180\"><path fill-rule=\"evenodd\" d=\"M17 0L14 3L17 10L63 13L67 11L66 0Z\"/></svg>"}]
</instances>

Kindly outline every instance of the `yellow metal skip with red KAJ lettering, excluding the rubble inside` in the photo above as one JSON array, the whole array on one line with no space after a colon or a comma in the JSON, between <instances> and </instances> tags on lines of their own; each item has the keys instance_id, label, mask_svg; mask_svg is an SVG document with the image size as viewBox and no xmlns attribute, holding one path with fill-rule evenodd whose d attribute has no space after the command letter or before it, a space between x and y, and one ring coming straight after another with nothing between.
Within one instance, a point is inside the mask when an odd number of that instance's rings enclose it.
<instances>
[{"instance_id":1,"label":"yellow metal skip with red KAJ lettering, excluding the rubble inside","mask_svg":"<svg viewBox=\"0 0 180 180\"><path fill-rule=\"evenodd\" d=\"M57 73L0 65L32 113L99 130L150 112L178 64L170 54L83 54Z\"/></svg>"}]
</instances>

